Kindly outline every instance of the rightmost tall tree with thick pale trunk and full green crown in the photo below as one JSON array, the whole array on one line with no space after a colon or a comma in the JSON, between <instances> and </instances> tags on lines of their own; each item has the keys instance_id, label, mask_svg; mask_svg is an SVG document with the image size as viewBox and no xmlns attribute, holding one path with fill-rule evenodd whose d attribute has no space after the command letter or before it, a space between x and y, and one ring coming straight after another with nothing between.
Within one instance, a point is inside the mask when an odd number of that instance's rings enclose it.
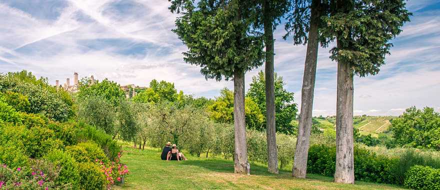
<instances>
[{"instance_id":1,"label":"rightmost tall tree with thick pale trunk and full green crown","mask_svg":"<svg viewBox=\"0 0 440 190\"><path fill-rule=\"evenodd\" d=\"M390 39L411 15L405 0L331 0L322 37L336 39L330 58L337 61L336 168L334 181L354 183L353 76L379 72Z\"/></svg>"}]
</instances>

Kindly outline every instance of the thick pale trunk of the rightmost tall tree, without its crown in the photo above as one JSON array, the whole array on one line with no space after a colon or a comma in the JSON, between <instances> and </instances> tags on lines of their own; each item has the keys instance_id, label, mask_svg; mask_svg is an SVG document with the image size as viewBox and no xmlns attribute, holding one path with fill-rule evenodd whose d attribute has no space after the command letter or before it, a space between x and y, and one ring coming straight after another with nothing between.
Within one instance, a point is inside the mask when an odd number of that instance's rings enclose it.
<instances>
[{"instance_id":1,"label":"thick pale trunk of the rightmost tall tree, without its crown","mask_svg":"<svg viewBox=\"0 0 440 190\"><path fill-rule=\"evenodd\" d=\"M336 43L341 48L337 39ZM338 60L334 182L354 183L353 162L353 69L350 64Z\"/></svg>"}]
</instances>

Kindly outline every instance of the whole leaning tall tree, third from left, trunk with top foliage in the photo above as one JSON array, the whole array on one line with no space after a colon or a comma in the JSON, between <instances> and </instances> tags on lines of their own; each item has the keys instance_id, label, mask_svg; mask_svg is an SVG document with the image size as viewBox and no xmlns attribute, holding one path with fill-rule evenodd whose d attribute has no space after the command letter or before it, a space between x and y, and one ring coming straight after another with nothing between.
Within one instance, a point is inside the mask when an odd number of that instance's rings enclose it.
<instances>
[{"instance_id":1,"label":"whole leaning tall tree, third from left, trunk with top foliage","mask_svg":"<svg viewBox=\"0 0 440 190\"><path fill-rule=\"evenodd\" d=\"M293 35L294 44L307 43L304 75L301 90L301 111L299 114L298 136L296 138L292 175L305 178L307 156L312 127L313 93L316 78L316 61L319 44L320 17L327 12L327 0L294 0L292 13L285 25L287 34ZM306 35L308 33L308 36ZM321 43L325 45L325 42Z\"/></svg>"}]
</instances>

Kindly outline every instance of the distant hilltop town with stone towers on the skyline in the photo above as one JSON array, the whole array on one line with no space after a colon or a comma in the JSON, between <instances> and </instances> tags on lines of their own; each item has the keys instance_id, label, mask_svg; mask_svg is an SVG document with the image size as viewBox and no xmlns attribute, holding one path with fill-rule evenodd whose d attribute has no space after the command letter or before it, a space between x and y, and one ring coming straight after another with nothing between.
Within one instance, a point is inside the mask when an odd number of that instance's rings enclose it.
<instances>
[{"instance_id":1,"label":"distant hilltop town with stone towers on the skyline","mask_svg":"<svg viewBox=\"0 0 440 190\"><path fill-rule=\"evenodd\" d=\"M90 80L88 85L93 85L95 83L95 79L93 75L90 75ZM55 80L55 86L58 88L63 88L68 92L77 92L79 90L79 80L78 73L73 72L73 83L70 85L70 78L66 78L64 84L60 84L59 80ZM125 92L126 97L133 97L136 95L135 89L145 89L144 86L136 86L134 84L121 85L120 88Z\"/></svg>"}]
</instances>

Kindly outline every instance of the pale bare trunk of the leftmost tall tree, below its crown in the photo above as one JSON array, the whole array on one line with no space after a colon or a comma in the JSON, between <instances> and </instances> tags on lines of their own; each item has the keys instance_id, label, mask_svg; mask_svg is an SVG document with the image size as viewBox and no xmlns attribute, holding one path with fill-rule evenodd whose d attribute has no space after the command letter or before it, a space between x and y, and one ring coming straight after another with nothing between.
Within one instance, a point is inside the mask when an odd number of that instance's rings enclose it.
<instances>
[{"instance_id":1,"label":"pale bare trunk of the leftmost tall tree, below its crown","mask_svg":"<svg viewBox=\"0 0 440 190\"><path fill-rule=\"evenodd\" d=\"M234 69L234 171L246 173L247 145L244 120L244 71Z\"/></svg>"}]
</instances>

